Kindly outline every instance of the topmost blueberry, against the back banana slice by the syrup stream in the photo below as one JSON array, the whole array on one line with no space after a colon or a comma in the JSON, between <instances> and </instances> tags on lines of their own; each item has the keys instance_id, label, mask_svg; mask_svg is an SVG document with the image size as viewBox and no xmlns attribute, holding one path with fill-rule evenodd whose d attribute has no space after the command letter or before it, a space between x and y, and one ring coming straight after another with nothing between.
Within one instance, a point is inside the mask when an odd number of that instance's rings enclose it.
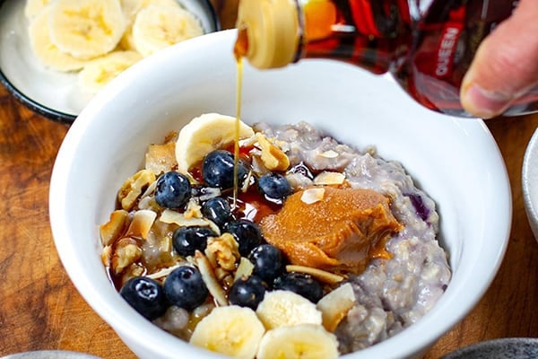
<instances>
[{"instance_id":1,"label":"topmost blueberry, against the back banana slice by the syrup stream","mask_svg":"<svg viewBox=\"0 0 538 359\"><path fill-rule=\"evenodd\" d=\"M224 150L216 150L208 153L202 162L202 178L205 183L218 188L233 187L233 153ZM247 167L245 163L238 163L238 183L239 185L247 177Z\"/></svg>"}]
</instances>

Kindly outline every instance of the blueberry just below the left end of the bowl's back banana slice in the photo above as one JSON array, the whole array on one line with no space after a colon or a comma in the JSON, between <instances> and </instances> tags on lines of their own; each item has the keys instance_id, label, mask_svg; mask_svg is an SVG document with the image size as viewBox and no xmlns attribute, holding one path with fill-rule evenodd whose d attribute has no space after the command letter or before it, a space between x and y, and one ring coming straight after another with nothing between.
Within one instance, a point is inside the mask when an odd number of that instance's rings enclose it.
<instances>
[{"instance_id":1,"label":"blueberry just below the left end of the bowl's back banana slice","mask_svg":"<svg viewBox=\"0 0 538 359\"><path fill-rule=\"evenodd\" d=\"M157 180L155 201L165 208L180 208L191 197L191 185L187 177L177 171L164 173Z\"/></svg>"}]
</instances>

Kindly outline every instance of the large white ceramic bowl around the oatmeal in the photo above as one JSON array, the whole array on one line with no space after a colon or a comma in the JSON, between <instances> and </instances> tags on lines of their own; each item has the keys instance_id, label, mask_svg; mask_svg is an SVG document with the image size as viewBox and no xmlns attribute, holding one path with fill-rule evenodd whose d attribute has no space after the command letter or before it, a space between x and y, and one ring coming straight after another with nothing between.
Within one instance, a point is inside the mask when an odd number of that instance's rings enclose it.
<instances>
[{"instance_id":1,"label":"large white ceramic bowl around the oatmeal","mask_svg":"<svg viewBox=\"0 0 538 359\"><path fill-rule=\"evenodd\" d=\"M143 165L148 144L202 113L235 114L235 36L188 40L121 74L82 110L57 155L50 221L60 258L85 300L142 358L219 356L172 337L119 296L100 262L98 226L117 188ZM412 327L348 357L423 353L473 309L507 246L508 176L487 127L421 108L386 76L322 60L265 72L245 66L243 94L245 121L306 120L359 148L375 144L437 201L440 241L454 271L447 292Z\"/></svg>"}]
</instances>

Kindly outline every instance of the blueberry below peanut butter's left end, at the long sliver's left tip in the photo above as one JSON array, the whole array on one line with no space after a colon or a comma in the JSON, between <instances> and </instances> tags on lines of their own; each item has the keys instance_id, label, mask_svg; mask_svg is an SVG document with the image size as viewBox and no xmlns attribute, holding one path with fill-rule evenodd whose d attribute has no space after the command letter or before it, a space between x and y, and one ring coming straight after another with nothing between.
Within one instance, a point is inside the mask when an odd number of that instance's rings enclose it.
<instances>
[{"instance_id":1,"label":"blueberry below peanut butter's left end, at the long sliver's left tip","mask_svg":"<svg viewBox=\"0 0 538 359\"><path fill-rule=\"evenodd\" d=\"M257 246L250 252L248 259L254 264L253 274L267 283L272 283L274 278L282 274L282 252L271 244Z\"/></svg>"}]
</instances>

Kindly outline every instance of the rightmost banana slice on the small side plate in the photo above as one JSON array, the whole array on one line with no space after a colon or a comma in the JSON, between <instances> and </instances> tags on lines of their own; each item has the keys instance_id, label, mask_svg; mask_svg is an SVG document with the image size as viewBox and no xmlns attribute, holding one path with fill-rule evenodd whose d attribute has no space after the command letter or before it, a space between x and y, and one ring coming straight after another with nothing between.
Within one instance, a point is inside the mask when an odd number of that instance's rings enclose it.
<instances>
[{"instance_id":1,"label":"rightmost banana slice on the small side plate","mask_svg":"<svg viewBox=\"0 0 538 359\"><path fill-rule=\"evenodd\" d=\"M138 12L133 24L134 46L143 57L203 33L195 15L179 6L149 5Z\"/></svg>"}]
</instances>

